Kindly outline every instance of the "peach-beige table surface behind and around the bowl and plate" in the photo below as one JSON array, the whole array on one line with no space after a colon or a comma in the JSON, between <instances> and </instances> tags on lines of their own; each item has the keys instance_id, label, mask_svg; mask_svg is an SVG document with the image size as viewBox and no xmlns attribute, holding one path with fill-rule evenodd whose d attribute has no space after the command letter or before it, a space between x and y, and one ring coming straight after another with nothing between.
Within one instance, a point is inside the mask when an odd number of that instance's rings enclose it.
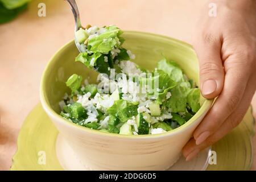
<instances>
[{"instance_id":1,"label":"peach-beige table surface behind and around the bowl and plate","mask_svg":"<svg viewBox=\"0 0 256 182\"><path fill-rule=\"evenodd\" d=\"M46 4L46 17L38 16L40 2ZM77 0L84 24L116 24L123 30L153 32L188 43L204 2ZM63 0L32 0L28 11L0 25L0 170L10 168L20 127L39 102L43 69L53 53L73 38L73 26L71 10ZM252 169L256 169L255 142L254 149Z\"/></svg>"}]
</instances>

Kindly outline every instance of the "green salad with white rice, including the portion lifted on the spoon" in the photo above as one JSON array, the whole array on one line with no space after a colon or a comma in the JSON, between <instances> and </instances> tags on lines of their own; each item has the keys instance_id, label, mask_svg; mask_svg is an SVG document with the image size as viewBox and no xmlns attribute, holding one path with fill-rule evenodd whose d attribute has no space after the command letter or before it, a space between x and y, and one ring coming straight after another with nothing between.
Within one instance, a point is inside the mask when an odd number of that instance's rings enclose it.
<instances>
[{"instance_id":1,"label":"green salad with white rice, including the portion lifted on the spoon","mask_svg":"<svg viewBox=\"0 0 256 182\"><path fill-rule=\"evenodd\" d=\"M124 135L160 134L184 125L200 109L200 90L175 61L164 58L153 71L139 67L122 47L116 26L76 32L84 49L76 57L99 72L97 84L71 75L59 102L60 115L93 130Z\"/></svg>"}]
</instances>

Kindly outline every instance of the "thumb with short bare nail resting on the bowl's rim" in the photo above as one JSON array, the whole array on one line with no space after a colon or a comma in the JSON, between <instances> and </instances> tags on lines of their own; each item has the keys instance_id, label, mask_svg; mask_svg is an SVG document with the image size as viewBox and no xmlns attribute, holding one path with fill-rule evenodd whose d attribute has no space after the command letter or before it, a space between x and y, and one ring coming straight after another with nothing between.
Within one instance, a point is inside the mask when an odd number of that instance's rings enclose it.
<instances>
[{"instance_id":1,"label":"thumb with short bare nail resting on the bowl's rim","mask_svg":"<svg viewBox=\"0 0 256 182\"><path fill-rule=\"evenodd\" d=\"M221 40L212 35L200 36L195 45L200 67L200 88L205 98L217 97L224 85Z\"/></svg>"}]
</instances>

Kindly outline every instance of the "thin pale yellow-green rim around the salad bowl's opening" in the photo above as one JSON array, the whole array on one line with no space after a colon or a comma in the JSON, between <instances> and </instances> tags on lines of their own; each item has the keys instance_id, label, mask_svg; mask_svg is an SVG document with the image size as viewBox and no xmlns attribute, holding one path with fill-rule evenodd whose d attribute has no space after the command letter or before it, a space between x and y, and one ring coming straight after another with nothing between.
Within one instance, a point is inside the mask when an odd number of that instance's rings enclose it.
<instances>
[{"instance_id":1,"label":"thin pale yellow-green rim around the salad bowl's opening","mask_svg":"<svg viewBox=\"0 0 256 182\"><path fill-rule=\"evenodd\" d=\"M141 31L124 31L124 32L125 32L125 34L137 34L137 35L140 35L140 36L154 36L155 38L158 38L158 39L159 38L166 39L169 42L171 41L171 42L174 42L175 44L180 44L180 46L190 48L191 51L195 53L195 51L193 50L193 48L190 44L185 43L181 40L170 38L168 36L152 34L152 33L148 33L148 32L141 32ZM62 52L64 52L65 48L71 46L71 44L74 44L73 39L71 41L69 41L68 43L64 44L64 46L62 46L57 52L55 52L55 54L48 61L47 65L46 65L46 68L44 68L43 75L42 75L42 78L41 78L41 81L40 81L40 101L42 103L42 106L43 106L44 110L52 118L56 119L57 121L63 122L63 124L65 124L65 125L69 125L70 127L74 127L74 128L79 129L81 131L85 131L86 133L95 134L95 135L102 135L103 137L126 138L126 139L152 139L152 138L155 139L155 138L162 138L162 137L167 137L167 136L170 136L170 135L175 135L175 134L180 133L181 131L187 129L188 126L191 126L192 123L194 123L197 119L199 119L201 117L201 115L206 113L210 109L210 106L212 106L213 99L211 99L211 100L205 99L203 105L201 105L201 107L197 111L197 113L195 115L193 115L193 117L191 119L189 119L189 121L184 123L184 125L182 125L180 127L177 127L174 130L167 131L167 132L161 133L161 134L122 135L122 134L106 133L106 132L93 130L93 129L89 129L89 128L84 127L84 126L77 125L77 124L69 121L68 119L65 119L65 118L61 117L59 114L57 114L52 109L52 107L48 104L48 101L47 101L47 98L46 98L46 89L45 89L46 85L47 85L46 77L49 74L49 72L51 71L50 68L52 67L53 63L55 63L55 61L57 60L57 59L55 59L55 57L57 57Z\"/></svg>"}]
</instances>

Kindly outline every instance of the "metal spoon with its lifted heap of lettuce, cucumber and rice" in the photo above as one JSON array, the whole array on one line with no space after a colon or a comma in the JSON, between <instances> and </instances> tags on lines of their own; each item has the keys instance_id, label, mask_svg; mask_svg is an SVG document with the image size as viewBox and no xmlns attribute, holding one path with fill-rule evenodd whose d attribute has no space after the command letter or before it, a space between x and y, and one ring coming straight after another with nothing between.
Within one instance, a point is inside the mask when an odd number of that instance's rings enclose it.
<instances>
[{"instance_id":1,"label":"metal spoon with its lifted heap of lettuce, cucumber and rice","mask_svg":"<svg viewBox=\"0 0 256 182\"><path fill-rule=\"evenodd\" d=\"M88 25L85 28L82 27L76 1L67 1L71 5L76 23L75 43L80 52L76 61L80 61L96 72L106 73L108 76L110 76L110 69L115 69L115 73L118 73L119 61L134 58L130 51L122 48L124 39L121 34L123 32L116 26L98 28Z\"/></svg>"}]
</instances>

